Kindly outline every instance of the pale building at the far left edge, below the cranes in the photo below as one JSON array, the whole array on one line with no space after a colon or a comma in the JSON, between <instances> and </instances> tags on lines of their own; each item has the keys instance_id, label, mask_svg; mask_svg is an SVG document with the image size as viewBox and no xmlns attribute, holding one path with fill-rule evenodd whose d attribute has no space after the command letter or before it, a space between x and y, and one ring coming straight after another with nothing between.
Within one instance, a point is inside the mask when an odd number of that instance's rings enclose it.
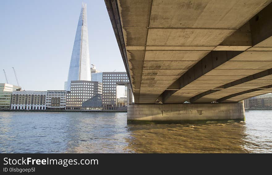
<instances>
[{"instance_id":1,"label":"pale building at the far left edge, below the cranes","mask_svg":"<svg viewBox=\"0 0 272 175\"><path fill-rule=\"evenodd\" d=\"M21 89L20 86L10 85L7 83L0 83L0 109L11 108L12 91Z\"/></svg>"}]
</instances>

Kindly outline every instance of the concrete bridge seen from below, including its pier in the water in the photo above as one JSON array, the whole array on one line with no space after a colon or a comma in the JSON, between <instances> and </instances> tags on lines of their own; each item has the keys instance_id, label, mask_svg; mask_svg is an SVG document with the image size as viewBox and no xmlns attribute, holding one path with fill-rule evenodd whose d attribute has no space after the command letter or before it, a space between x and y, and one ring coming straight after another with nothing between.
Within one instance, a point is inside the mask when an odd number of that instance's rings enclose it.
<instances>
[{"instance_id":1,"label":"concrete bridge seen from below, including its pier in the water","mask_svg":"<svg viewBox=\"0 0 272 175\"><path fill-rule=\"evenodd\" d=\"M105 0L135 104L128 120L244 120L272 92L272 0Z\"/></svg>"}]
</instances>

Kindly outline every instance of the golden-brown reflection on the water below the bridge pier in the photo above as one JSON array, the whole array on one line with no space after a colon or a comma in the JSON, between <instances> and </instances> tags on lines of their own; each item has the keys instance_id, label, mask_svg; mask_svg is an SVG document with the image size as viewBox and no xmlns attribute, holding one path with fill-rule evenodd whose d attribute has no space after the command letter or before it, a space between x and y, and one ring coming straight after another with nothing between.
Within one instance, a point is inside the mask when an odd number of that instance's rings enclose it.
<instances>
[{"instance_id":1,"label":"golden-brown reflection on the water below the bridge pier","mask_svg":"<svg viewBox=\"0 0 272 175\"><path fill-rule=\"evenodd\" d=\"M127 149L140 153L246 153L245 124L131 125Z\"/></svg>"}]
</instances>

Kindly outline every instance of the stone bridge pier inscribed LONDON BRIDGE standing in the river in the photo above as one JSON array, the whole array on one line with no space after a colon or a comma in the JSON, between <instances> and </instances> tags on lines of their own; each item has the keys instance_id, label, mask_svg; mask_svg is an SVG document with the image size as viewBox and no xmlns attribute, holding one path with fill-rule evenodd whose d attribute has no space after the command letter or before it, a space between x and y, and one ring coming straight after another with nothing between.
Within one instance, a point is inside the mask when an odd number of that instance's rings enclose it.
<instances>
[{"instance_id":1,"label":"stone bridge pier inscribed LONDON BRIDGE standing in the river","mask_svg":"<svg viewBox=\"0 0 272 175\"><path fill-rule=\"evenodd\" d=\"M130 104L127 121L147 123L216 123L244 121L244 103Z\"/></svg>"}]
</instances>

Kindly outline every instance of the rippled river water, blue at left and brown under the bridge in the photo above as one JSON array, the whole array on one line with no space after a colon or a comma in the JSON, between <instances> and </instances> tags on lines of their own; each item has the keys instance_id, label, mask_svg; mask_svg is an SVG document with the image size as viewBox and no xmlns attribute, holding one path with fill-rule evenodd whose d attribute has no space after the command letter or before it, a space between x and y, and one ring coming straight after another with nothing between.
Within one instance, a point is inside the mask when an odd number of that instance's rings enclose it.
<instances>
[{"instance_id":1,"label":"rippled river water, blue at left and brown under the bridge","mask_svg":"<svg viewBox=\"0 0 272 175\"><path fill-rule=\"evenodd\" d=\"M0 112L0 153L272 153L272 111L184 125L127 125L126 115Z\"/></svg>"}]
</instances>

